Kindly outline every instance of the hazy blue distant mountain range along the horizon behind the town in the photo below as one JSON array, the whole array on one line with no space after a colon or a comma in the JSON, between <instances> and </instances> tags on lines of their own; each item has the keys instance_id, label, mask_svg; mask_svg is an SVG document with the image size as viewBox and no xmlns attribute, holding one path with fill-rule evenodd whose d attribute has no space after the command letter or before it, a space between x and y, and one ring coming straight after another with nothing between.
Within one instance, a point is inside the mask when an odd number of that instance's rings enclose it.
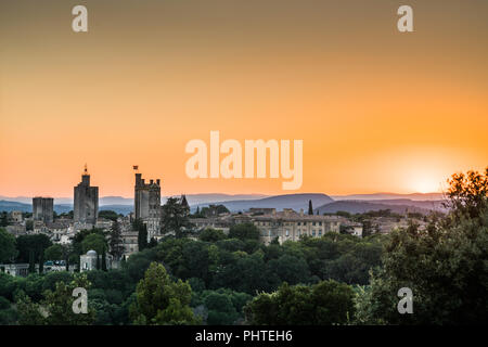
<instances>
[{"instance_id":1,"label":"hazy blue distant mountain range along the horizon behind the town","mask_svg":"<svg viewBox=\"0 0 488 347\"><path fill-rule=\"evenodd\" d=\"M351 214L364 213L369 210L390 209L395 213L419 211L426 214L429 210L445 210L441 205L441 193L428 194L396 194L396 193L375 193L375 194L354 194L354 195L333 195L332 197L321 193L310 194L285 194L267 196L262 194L188 194L192 211L209 204L222 204L229 210L245 211L252 207L272 207L277 210L292 208L299 211L308 210L308 201L323 213L336 213L338 210ZM162 203L166 201L162 198ZM123 196L103 196L100 198L100 209L112 209L118 214L127 215L132 211L133 200ZM319 207L317 207L319 206ZM73 209L73 200L67 197L54 198L54 210L57 214L67 213ZM0 195L0 211L31 211L31 198L26 196L7 197Z\"/></svg>"}]
</instances>

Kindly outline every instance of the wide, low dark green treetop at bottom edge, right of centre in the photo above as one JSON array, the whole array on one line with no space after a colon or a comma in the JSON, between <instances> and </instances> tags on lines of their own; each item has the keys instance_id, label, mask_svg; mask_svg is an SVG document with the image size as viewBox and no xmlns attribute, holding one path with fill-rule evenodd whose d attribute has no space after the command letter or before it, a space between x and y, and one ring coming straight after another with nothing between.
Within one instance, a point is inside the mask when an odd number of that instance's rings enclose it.
<instances>
[{"instance_id":1,"label":"wide, low dark green treetop at bottom edge, right of centre","mask_svg":"<svg viewBox=\"0 0 488 347\"><path fill-rule=\"evenodd\" d=\"M259 294L244 308L256 325L347 324L355 314L354 291L333 280L316 285L283 283L273 294Z\"/></svg>"}]
</instances>

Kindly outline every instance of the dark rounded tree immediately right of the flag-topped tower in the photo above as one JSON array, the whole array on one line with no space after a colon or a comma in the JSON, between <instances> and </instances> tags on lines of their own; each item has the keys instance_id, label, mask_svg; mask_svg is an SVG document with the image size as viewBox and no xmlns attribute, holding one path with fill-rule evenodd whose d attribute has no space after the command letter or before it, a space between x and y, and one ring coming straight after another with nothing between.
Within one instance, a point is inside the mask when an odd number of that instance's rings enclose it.
<instances>
[{"instance_id":1,"label":"dark rounded tree immediately right of the flag-topped tower","mask_svg":"<svg viewBox=\"0 0 488 347\"><path fill-rule=\"evenodd\" d=\"M163 205L162 232L174 233L177 239L182 237L192 227L189 216L188 206L183 206L177 197L169 197Z\"/></svg>"}]
</instances>

